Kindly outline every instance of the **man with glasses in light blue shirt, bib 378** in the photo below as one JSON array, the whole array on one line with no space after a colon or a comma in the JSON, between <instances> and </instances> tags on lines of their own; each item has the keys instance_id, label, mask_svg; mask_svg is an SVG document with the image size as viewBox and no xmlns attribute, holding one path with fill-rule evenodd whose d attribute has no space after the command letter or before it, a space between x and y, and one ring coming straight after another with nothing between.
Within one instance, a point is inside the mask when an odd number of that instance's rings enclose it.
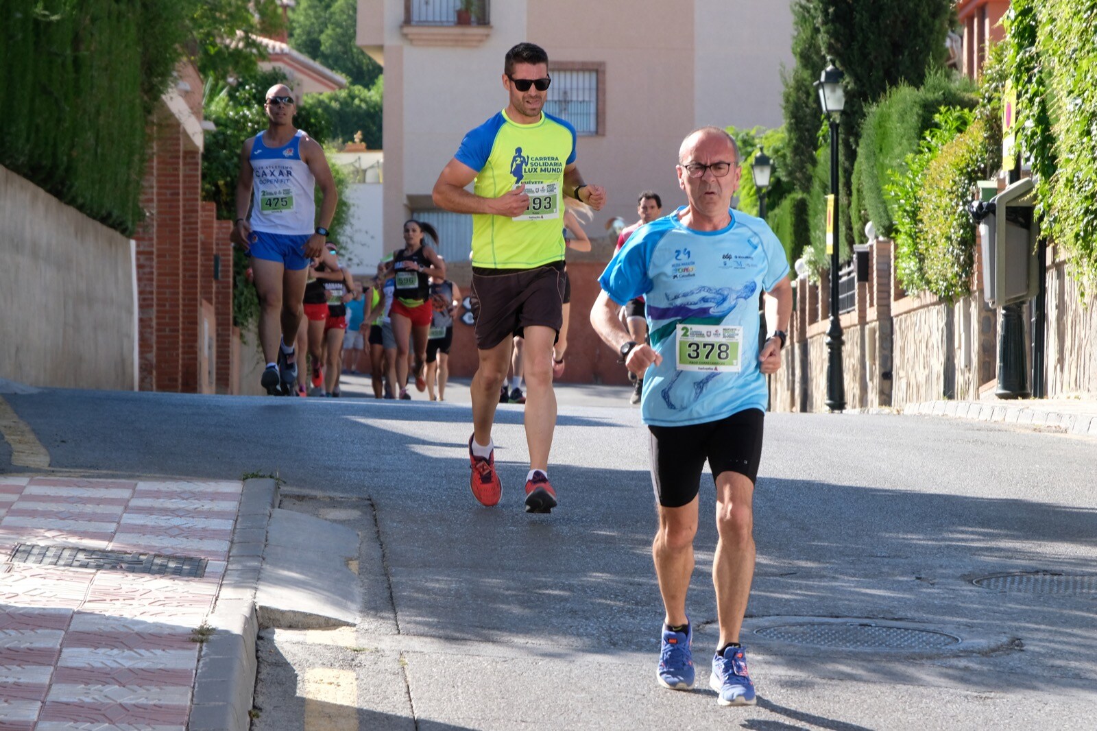
<instances>
[{"instance_id":1,"label":"man with glasses in light blue shirt, bib 378","mask_svg":"<svg viewBox=\"0 0 1097 731\"><path fill-rule=\"evenodd\" d=\"M792 314L784 249L766 222L731 209L738 187L735 140L719 127L691 133L678 153L689 205L641 226L599 278L595 330L644 379L641 414L652 432L659 528L652 553L666 609L658 682L693 687L686 592L693 573L698 493L705 460L716 483L720 540L713 583L720 642L709 684L723 706L755 704L739 644L754 577L751 498L768 406L766 375L781 367ZM767 292L771 337L758 346ZM651 345L632 340L617 313L644 295Z\"/></svg>"}]
</instances>

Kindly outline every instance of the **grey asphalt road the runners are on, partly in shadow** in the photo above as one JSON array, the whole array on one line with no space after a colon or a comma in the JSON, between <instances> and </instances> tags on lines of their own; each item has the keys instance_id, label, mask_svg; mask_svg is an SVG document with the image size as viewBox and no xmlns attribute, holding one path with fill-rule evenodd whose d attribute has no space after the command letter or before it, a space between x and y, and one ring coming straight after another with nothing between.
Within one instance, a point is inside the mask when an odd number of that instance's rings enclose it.
<instances>
[{"instance_id":1,"label":"grey asphalt road the runners are on, partly in shadow","mask_svg":"<svg viewBox=\"0 0 1097 731\"><path fill-rule=\"evenodd\" d=\"M932 417L769 415L744 637L759 705L727 709L703 689L716 640L709 476L689 600L702 688L655 683L654 498L646 431L624 390L562 390L550 470L561 506L550 516L521 509L521 406L500 407L495 432L502 503L473 502L460 389L448 403L5 398L56 469L276 472L283 507L359 531L359 626L338 640L267 633L259 731L301 728L301 688L321 666L350 678L352 696L328 710L357 708L353 728L1094 728L1090 438ZM1081 576L1087 591L974 583L1021 572Z\"/></svg>"}]
</instances>

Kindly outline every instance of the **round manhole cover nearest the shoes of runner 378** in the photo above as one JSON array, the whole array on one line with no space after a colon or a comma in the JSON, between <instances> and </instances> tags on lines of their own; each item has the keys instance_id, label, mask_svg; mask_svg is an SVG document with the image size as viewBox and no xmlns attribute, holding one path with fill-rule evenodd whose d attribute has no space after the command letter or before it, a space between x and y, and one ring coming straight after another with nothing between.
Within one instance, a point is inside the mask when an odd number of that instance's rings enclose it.
<instances>
[{"instance_id":1,"label":"round manhole cover nearest the shoes of runner 378","mask_svg":"<svg viewBox=\"0 0 1097 731\"><path fill-rule=\"evenodd\" d=\"M945 632L867 622L778 625L757 629L755 634L780 642L847 650L931 650L960 643L960 638Z\"/></svg>"}]
</instances>

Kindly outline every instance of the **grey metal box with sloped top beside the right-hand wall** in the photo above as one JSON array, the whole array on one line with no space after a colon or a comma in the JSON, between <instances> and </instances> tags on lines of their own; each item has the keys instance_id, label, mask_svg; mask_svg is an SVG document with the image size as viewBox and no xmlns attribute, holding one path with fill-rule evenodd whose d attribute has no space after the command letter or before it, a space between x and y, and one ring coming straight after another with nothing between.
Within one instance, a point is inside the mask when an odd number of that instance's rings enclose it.
<instances>
[{"instance_id":1,"label":"grey metal box with sloped top beside the right-hand wall","mask_svg":"<svg viewBox=\"0 0 1097 731\"><path fill-rule=\"evenodd\" d=\"M994 196L980 223L983 296L992 307L1032 299L1039 288L1032 216L1032 180L1025 178Z\"/></svg>"}]
</instances>

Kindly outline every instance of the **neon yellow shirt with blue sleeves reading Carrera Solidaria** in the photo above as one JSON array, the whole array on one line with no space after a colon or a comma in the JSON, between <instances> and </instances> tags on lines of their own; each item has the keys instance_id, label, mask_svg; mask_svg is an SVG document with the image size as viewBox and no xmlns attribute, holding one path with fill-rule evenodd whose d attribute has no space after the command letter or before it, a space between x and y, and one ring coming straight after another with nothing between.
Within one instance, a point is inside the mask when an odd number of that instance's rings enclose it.
<instances>
[{"instance_id":1,"label":"neon yellow shirt with blue sleeves reading Carrera Solidaria","mask_svg":"<svg viewBox=\"0 0 1097 731\"><path fill-rule=\"evenodd\" d=\"M524 184L530 196L513 218L473 214L474 267L533 269L564 259L564 168L575 161L575 127L544 113L518 124L502 111L466 134L454 157L478 172L477 195Z\"/></svg>"}]
</instances>

